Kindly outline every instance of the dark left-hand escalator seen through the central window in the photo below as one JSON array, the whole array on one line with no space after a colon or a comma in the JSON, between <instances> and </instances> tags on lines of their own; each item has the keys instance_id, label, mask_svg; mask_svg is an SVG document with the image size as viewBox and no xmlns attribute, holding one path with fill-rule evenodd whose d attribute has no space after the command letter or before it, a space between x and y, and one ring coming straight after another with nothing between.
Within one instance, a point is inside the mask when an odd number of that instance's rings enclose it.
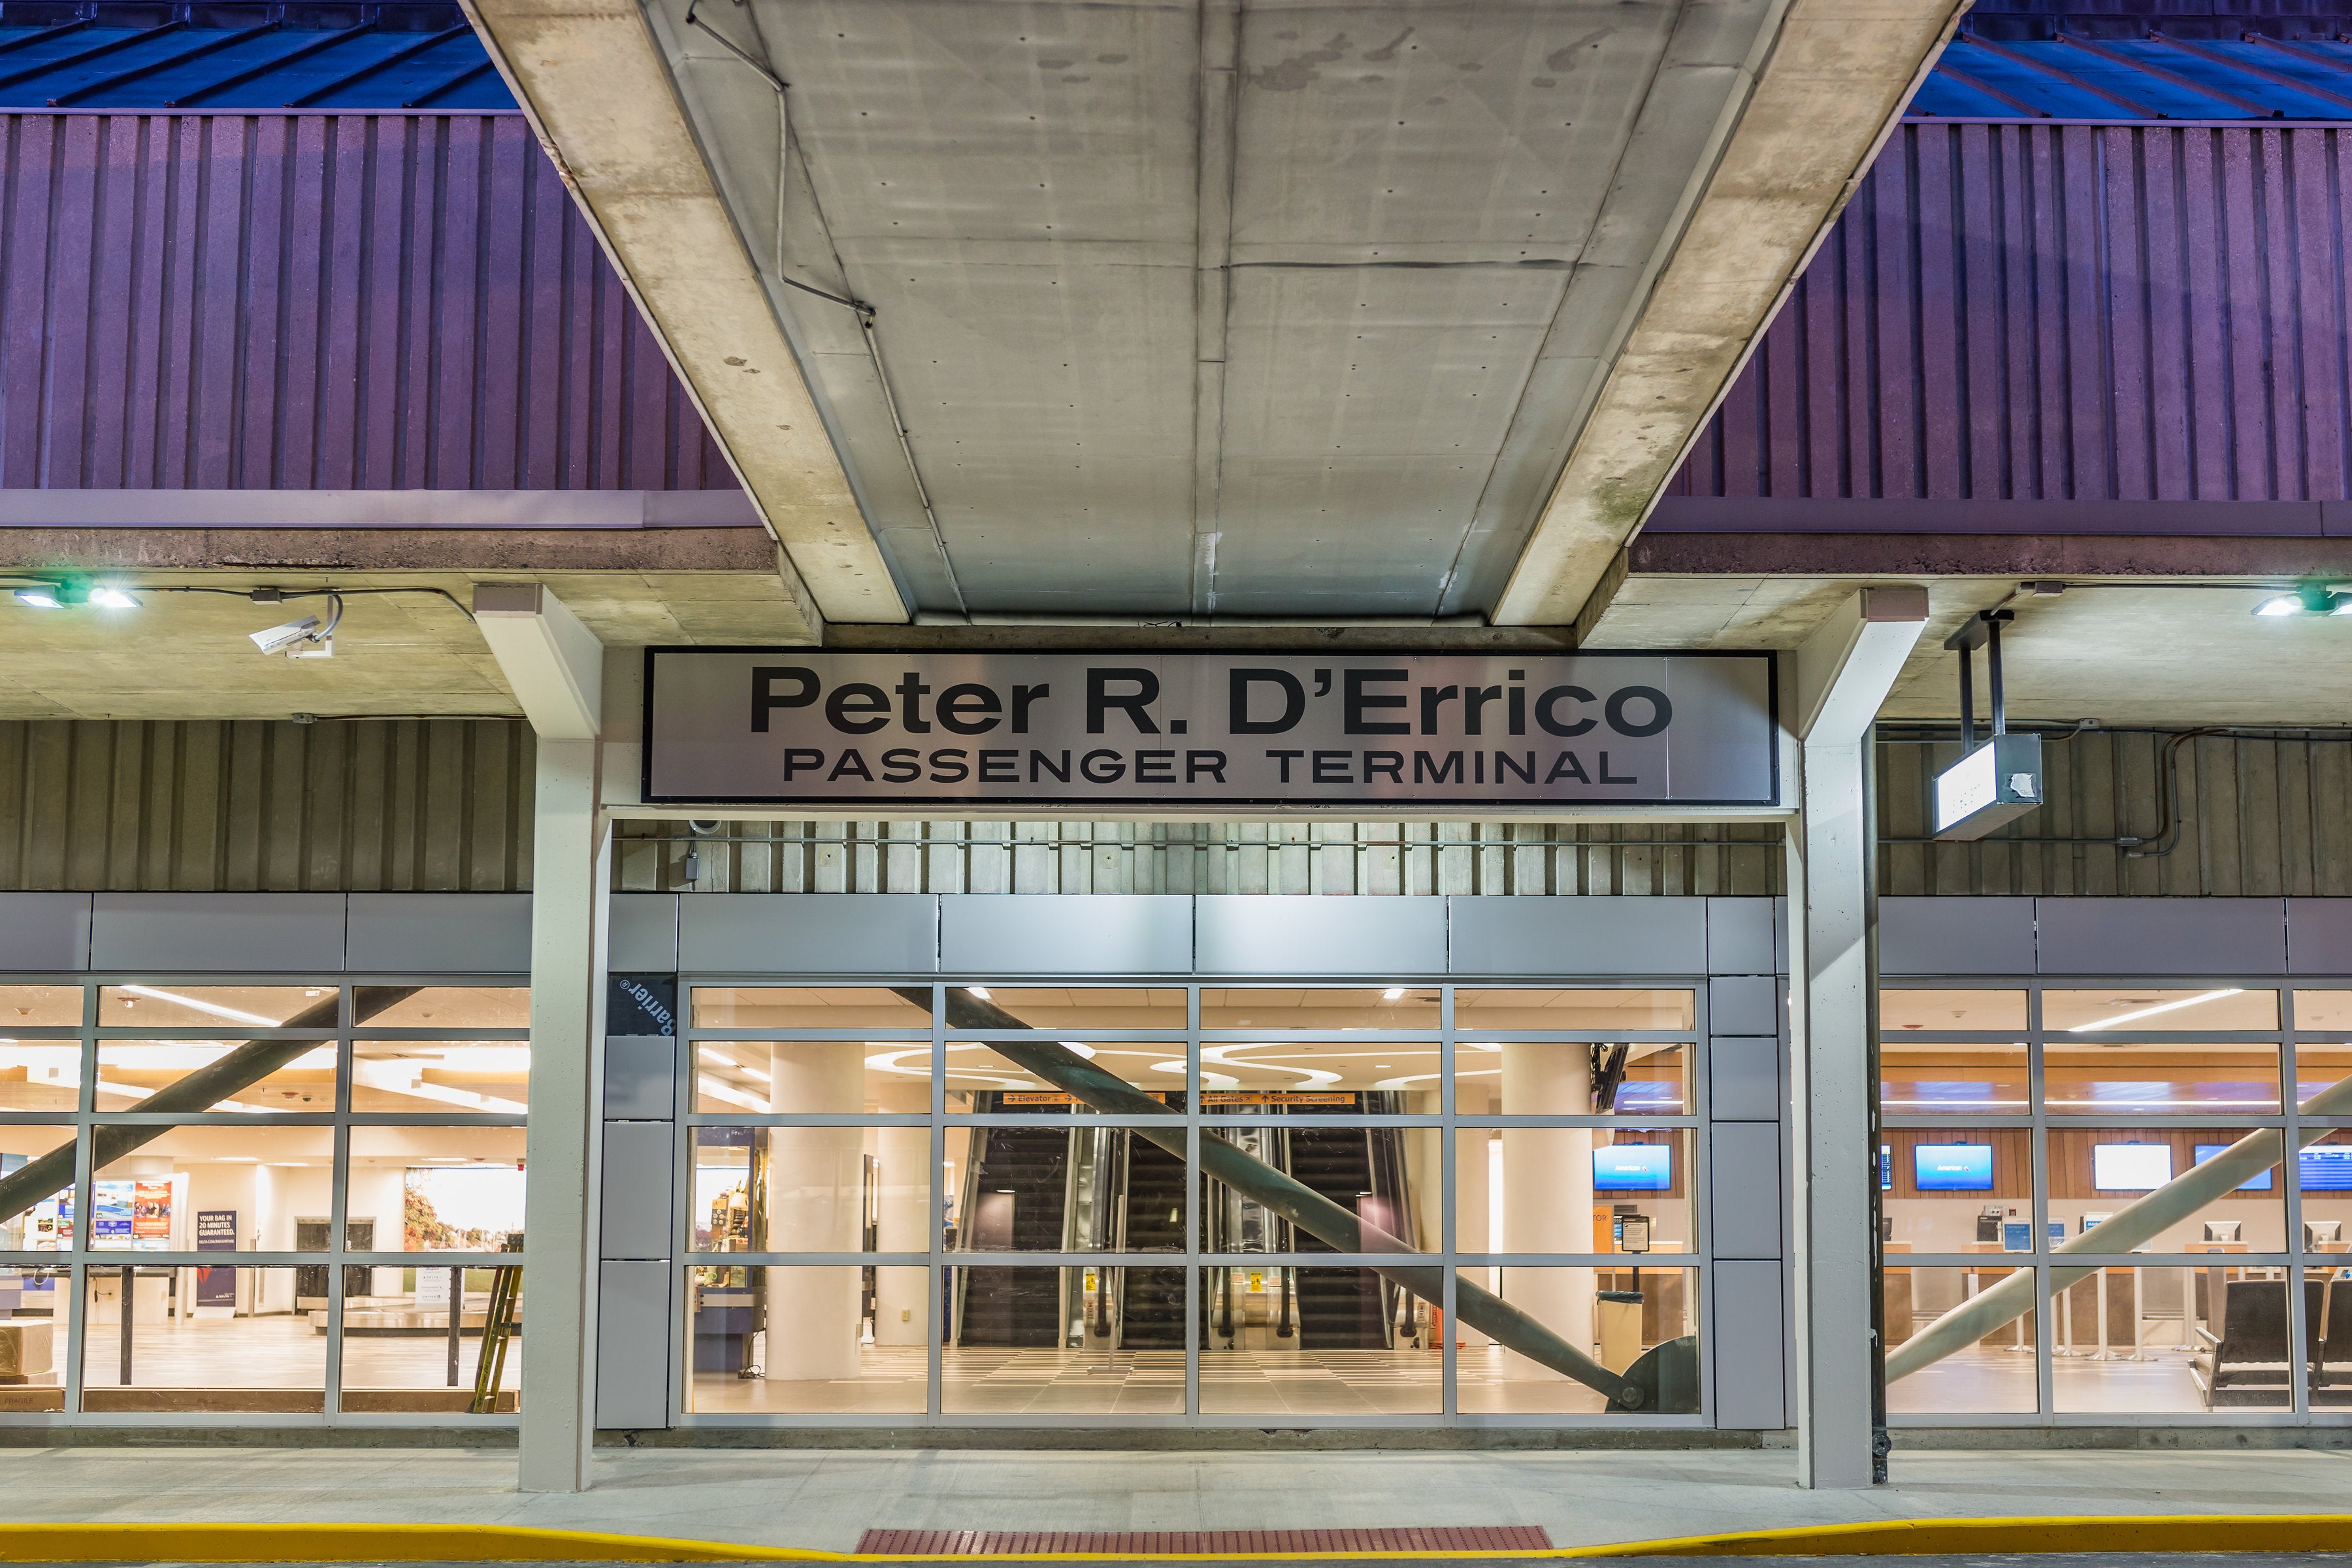
<instances>
[{"instance_id":1,"label":"dark left-hand escalator seen through the central window","mask_svg":"<svg viewBox=\"0 0 2352 1568\"><path fill-rule=\"evenodd\" d=\"M995 1110L983 1105L978 1110ZM1007 1107L1014 1110L1014 1107ZM1058 1253L1070 1201L1070 1126L974 1128L964 1253ZM1061 1126L1054 1126L1061 1121ZM1061 1269L960 1267L955 1342L1061 1345Z\"/></svg>"}]
</instances>

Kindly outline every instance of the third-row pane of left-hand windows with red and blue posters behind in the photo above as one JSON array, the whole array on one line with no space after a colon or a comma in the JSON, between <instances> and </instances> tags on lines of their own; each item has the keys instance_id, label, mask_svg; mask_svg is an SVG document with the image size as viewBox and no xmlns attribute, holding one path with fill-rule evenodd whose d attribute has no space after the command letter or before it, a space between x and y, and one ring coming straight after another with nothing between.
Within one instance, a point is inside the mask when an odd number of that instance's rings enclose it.
<instances>
[{"instance_id":1,"label":"third-row pane of left-hand windows with red and blue posters behind","mask_svg":"<svg viewBox=\"0 0 2352 1568\"><path fill-rule=\"evenodd\" d=\"M266 1253L327 1251L334 1213L332 1126L108 1126L92 1131L89 1246L195 1251L198 1213ZM325 1302L325 1269L313 1293Z\"/></svg>"}]
</instances>

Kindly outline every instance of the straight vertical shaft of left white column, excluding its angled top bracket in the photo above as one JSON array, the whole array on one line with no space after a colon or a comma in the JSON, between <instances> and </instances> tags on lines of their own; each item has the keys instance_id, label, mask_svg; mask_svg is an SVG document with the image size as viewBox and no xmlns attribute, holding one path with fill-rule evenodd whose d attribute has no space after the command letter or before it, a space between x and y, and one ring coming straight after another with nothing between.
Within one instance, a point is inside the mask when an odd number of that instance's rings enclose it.
<instances>
[{"instance_id":1,"label":"straight vertical shaft of left white column, excluding its angled top bracket","mask_svg":"<svg viewBox=\"0 0 2352 1568\"><path fill-rule=\"evenodd\" d=\"M597 743L539 741L532 844L532 1112L524 1190L527 1493L588 1490L595 1436L597 1119L612 835Z\"/></svg>"}]
</instances>

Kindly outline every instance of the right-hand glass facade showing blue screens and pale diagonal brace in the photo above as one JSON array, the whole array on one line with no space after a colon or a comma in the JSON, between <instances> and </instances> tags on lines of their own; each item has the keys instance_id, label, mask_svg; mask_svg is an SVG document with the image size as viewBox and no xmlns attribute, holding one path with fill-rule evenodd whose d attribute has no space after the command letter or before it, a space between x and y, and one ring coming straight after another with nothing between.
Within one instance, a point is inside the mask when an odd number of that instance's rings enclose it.
<instances>
[{"instance_id":1,"label":"right-hand glass facade showing blue screens and pale diagonal brace","mask_svg":"<svg viewBox=\"0 0 2352 1568\"><path fill-rule=\"evenodd\" d=\"M2343 990L1889 983L1879 1034L1889 1420L2352 1415Z\"/></svg>"}]
</instances>

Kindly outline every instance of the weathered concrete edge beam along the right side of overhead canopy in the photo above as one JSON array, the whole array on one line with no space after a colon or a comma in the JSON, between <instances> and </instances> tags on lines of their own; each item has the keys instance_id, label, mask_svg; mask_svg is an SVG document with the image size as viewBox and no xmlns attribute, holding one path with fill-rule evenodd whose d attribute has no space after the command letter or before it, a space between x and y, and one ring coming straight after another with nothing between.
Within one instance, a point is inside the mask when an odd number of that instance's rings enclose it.
<instances>
[{"instance_id":1,"label":"weathered concrete edge beam along the right side of overhead canopy","mask_svg":"<svg viewBox=\"0 0 2352 1568\"><path fill-rule=\"evenodd\" d=\"M1616 334L1609 376L1494 621L1578 621L1609 562L1853 197L1966 0L1788 0L1743 68L1684 219Z\"/></svg>"}]
</instances>

